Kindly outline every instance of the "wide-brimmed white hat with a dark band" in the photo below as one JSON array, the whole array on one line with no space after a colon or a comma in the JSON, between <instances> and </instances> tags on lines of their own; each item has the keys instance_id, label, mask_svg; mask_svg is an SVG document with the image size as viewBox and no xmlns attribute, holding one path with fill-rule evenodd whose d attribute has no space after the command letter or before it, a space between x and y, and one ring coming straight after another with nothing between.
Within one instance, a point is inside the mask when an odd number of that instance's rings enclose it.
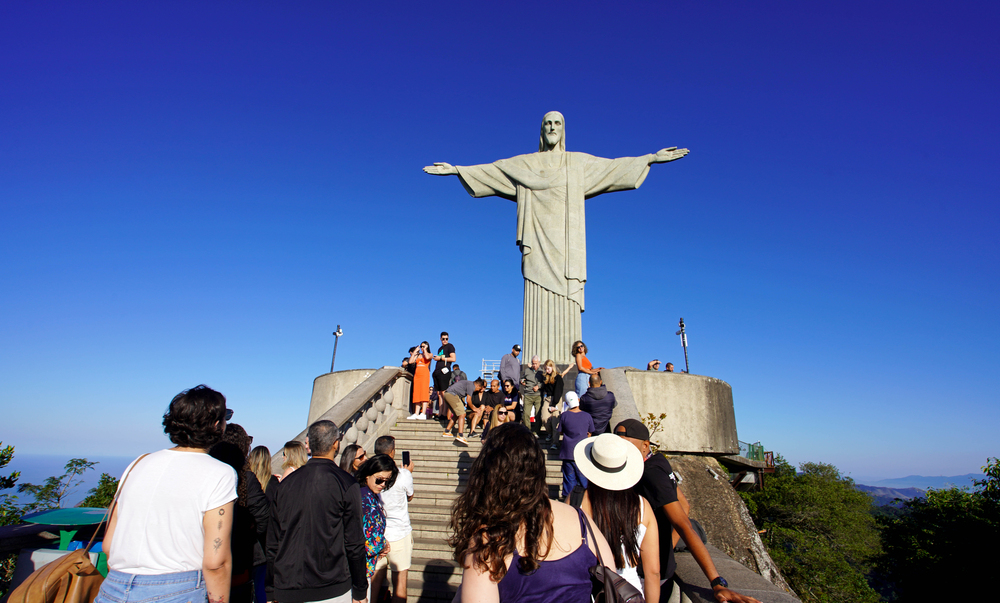
<instances>
[{"instance_id":1,"label":"wide-brimmed white hat with a dark band","mask_svg":"<svg viewBox=\"0 0 1000 603\"><path fill-rule=\"evenodd\" d=\"M613 433L582 440L573 449L580 473L605 490L625 490L642 477L642 453L628 440Z\"/></svg>"}]
</instances>

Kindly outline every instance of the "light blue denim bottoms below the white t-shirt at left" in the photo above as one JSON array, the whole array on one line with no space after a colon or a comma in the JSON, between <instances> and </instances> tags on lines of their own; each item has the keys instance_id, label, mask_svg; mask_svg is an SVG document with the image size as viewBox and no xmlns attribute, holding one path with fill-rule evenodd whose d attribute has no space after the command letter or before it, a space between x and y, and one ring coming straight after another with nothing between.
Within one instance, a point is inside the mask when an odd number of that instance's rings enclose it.
<instances>
[{"instance_id":1,"label":"light blue denim bottoms below the white t-shirt at left","mask_svg":"<svg viewBox=\"0 0 1000 603\"><path fill-rule=\"evenodd\" d=\"M94 603L205 603L208 588L200 571L141 575L111 570Z\"/></svg>"}]
</instances>

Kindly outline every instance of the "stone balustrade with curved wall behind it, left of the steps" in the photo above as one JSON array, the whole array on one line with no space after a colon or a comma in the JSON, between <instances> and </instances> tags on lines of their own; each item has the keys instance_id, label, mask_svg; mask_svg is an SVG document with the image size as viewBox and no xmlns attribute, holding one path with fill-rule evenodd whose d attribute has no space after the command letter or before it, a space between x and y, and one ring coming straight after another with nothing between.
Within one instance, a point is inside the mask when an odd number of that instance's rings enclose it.
<instances>
[{"instance_id":1,"label":"stone balustrade with curved wall behind it, left of the steps","mask_svg":"<svg viewBox=\"0 0 1000 603\"><path fill-rule=\"evenodd\" d=\"M329 399L328 392L347 389L331 387L331 382L345 379L360 383L350 386L349 391L339 399ZM313 382L309 423L320 419L336 423L342 434L341 450L348 444L359 444L370 450L379 436L389 433L396 420L405 416L411 385L409 373L392 366L321 375ZM306 425L306 429L292 439L305 442L308 429L309 426ZM284 458L279 450L271 457L271 467L275 473L281 473L283 462Z\"/></svg>"}]
</instances>

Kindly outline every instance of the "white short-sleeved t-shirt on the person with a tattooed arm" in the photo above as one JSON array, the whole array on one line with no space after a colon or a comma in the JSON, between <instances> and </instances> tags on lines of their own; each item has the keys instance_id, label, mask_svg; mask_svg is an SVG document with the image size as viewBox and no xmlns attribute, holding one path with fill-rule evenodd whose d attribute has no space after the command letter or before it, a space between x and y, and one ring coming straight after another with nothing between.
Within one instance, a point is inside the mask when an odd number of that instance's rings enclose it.
<instances>
[{"instance_id":1,"label":"white short-sleeved t-shirt on the person with a tattooed arm","mask_svg":"<svg viewBox=\"0 0 1000 603\"><path fill-rule=\"evenodd\" d=\"M125 475L108 567L141 575L200 570L205 512L236 499L236 472L204 453L160 450L132 461Z\"/></svg>"}]
</instances>

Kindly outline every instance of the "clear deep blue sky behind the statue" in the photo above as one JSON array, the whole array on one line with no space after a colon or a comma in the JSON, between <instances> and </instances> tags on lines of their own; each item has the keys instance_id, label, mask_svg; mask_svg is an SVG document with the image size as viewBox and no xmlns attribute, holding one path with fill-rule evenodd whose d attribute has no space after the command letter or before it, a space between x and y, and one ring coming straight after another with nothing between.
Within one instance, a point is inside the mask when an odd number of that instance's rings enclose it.
<instances>
[{"instance_id":1,"label":"clear deep blue sky behind the statue","mask_svg":"<svg viewBox=\"0 0 1000 603\"><path fill-rule=\"evenodd\" d=\"M519 341L514 204L434 161L666 146L588 202L595 363L733 387L855 477L1000 455L996 2L5 2L0 439L165 445L207 383L272 449L312 380ZM472 370L470 370L472 369Z\"/></svg>"}]
</instances>

